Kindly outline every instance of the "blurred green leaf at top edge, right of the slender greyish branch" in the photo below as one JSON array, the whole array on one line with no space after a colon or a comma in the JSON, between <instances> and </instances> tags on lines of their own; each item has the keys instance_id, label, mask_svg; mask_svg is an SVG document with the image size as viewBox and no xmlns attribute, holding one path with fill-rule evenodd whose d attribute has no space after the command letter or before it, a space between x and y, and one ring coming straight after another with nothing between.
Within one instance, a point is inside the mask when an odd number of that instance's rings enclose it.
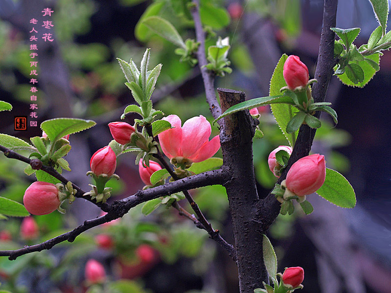
<instances>
[{"instance_id":1,"label":"blurred green leaf at top edge, right of the slender greyish branch","mask_svg":"<svg viewBox=\"0 0 391 293\"><path fill-rule=\"evenodd\" d=\"M217 30L227 26L230 22L228 12L224 8L215 7L208 1L201 2L199 15L202 24L209 25Z\"/></svg>"}]
</instances>

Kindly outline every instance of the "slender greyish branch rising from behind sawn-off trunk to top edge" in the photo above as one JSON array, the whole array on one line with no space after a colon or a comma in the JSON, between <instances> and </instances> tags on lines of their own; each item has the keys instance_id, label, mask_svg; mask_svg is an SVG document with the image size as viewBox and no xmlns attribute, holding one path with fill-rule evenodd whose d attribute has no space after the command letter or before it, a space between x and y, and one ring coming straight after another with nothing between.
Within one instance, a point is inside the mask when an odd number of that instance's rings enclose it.
<instances>
[{"instance_id":1,"label":"slender greyish branch rising from behind sawn-off trunk to top edge","mask_svg":"<svg viewBox=\"0 0 391 293\"><path fill-rule=\"evenodd\" d=\"M204 81L206 101L209 104L209 110L211 111L213 117L216 119L221 115L221 109L219 102L216 98L214 75L206 68L208 62L206 60L205 55L205 35L204 30L202 29L201 17L199 16L199 0L194 0L193 3L194 6L191 9L191 13L194 19L194 26L196 29L196 39L197 42L199 42L197 50L198 66L201 70L202 79ZM220 124L222 122L218 121L218 123Z\"/></svg>"}]
</instances>

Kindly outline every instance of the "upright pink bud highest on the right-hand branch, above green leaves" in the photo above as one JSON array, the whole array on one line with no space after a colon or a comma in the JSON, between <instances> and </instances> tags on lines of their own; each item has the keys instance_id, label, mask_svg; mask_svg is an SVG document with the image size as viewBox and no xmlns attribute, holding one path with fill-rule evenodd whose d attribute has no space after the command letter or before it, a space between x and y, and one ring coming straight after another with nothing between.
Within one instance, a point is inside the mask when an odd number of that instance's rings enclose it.
<instances>
[{"instance_id":1,"label":"upright pink bud highest on the right-hand branch, above green leaves","mask_svg":"<svg viewBox=\"0 0 391 293\"><path fill-rule=\"evenodd\" d=\"M284 63L283 75L290 90L305 87L309 80L308 68L300 58L294 55L288 57Z\"/></svg>"}]
</instances>

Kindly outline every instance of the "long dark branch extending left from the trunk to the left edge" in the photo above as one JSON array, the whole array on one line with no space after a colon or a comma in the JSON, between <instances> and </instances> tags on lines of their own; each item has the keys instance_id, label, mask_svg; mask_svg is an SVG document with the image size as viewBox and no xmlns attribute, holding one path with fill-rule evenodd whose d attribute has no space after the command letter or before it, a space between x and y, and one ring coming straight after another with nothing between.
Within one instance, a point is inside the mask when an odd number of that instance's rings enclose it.
<instances>
[{"instance_id":1,"label":"long dark branch extending left from the trunk to the left edge","mask_svg":"<svg viewBox=\"0 0 391 293\"><path fill-rule=\"evenodd\" d=\"M180 192L186 189L193 189L212 184L224 184L227 180L227 174L221 169L219 169L197 174L174 182L169 182L167 184L160 185L154 188L139 190L134 195L131 195L120 201L114 201L112 204L109 204L108 213L104 216L93 220L84 221L82 225L77 226L72 231L61 234L41 244L27 246L16 250L0 251L0 256L9 256L9 259L13 260L16 259L18 256L24 255L26 253L50 249L60 242L73 242L74 239L82 232L95 226L101 225L103 223L107 223L115 219L121 218L132 207L140 203L145 203L160 196Z\"/></svg>"}]
</instances>

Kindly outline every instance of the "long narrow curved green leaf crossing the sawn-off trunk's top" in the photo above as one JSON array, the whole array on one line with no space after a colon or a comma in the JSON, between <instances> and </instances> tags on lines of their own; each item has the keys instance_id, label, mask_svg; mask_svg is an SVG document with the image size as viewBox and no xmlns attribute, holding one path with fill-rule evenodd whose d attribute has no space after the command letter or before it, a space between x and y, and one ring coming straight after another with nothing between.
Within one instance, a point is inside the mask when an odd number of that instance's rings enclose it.
<instances>
[{"instance_id":1,"label":"long narrow curved green leaf crossing the sawn-off trunk's top","mask_svg":"<svg viewBox=\"0 0 391 293\"><path fill-rule=\"evenodd\" d=\"M227 115L247 110L247 109L252 109L256 108L259 106L264 106L264 105L269 105L269 104L291 104L293 105L292 98L286 95L275 95L275 96L270 96L270 97L261 97L261 98L255 98L251 99L248 101L244 101L242 103L236 104L230 108L228 108L224 113L222 113L213 123L216 121L219 121L221 118L224 118Z\"/></svg>"}]
</instances>

